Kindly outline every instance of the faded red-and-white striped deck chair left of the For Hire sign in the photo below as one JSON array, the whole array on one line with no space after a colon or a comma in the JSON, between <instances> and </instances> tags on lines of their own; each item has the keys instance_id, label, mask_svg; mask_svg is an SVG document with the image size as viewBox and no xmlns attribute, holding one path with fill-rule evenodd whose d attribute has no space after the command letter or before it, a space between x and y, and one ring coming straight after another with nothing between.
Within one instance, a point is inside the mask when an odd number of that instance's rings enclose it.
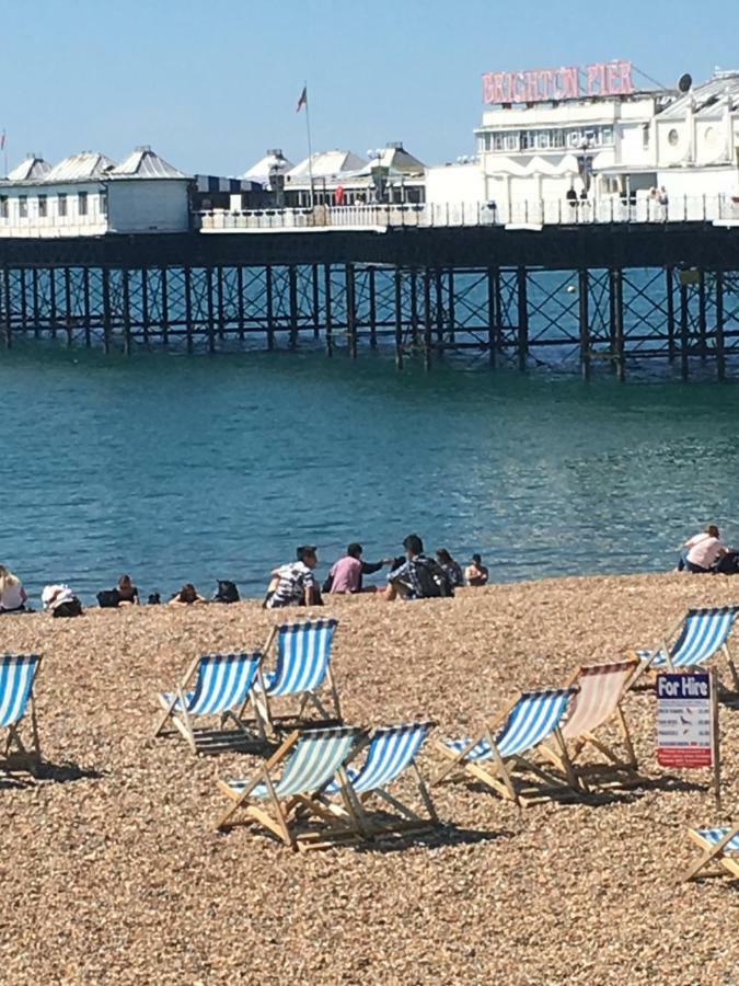
<instances>
[{"instance_id":1,"label":"faded red-and-white striped deck chair left of the For Hire sign","mask_svg":"<svg viewBox=\"0 0 739 986\"><path fill-rule=\"evenodd\" d=\"M619 773L624 772L630 776L631 780L638 780L634 746L621 708L621 701L637 664L638 661L630 660L610 664L580 665L567 681L566 687L578 686L579 690L562 724L562 738L567 745L575 773L581 782L585 782L588 776L604 781L615 780ZM620 756L617 750L602 737L594 735L612 719L617 722L625 757ZM605 761L578 763L588 746L597 749L605 758ZM547 755L555 763L559 758L557 750L551 747L547 749ZM564 764L557 766L564 768ZM625 779L621 778L622 781Z\"/></svg>"}]
</instances>

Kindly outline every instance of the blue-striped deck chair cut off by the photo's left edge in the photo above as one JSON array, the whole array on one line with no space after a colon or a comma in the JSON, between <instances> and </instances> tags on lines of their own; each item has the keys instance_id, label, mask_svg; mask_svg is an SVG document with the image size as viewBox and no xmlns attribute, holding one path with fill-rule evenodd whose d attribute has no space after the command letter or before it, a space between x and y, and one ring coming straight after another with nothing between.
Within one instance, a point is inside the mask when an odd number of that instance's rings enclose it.
<instances>
[{"instance_id":1,"label":"blue-striped deck chair cut off by the photo's left edge","mask_svg":"<svg viewBox=\"0 0 739 986\"><path fill-rule=\"evenodd\" d=\"M33 687L41 666L38 654L5 654L0 657L0 730L7 730L0 756L3 770L25 769L35 773L41 764ZM21 723L31 712L31 735L21 737Z\"/></svg>"}]
</instances>

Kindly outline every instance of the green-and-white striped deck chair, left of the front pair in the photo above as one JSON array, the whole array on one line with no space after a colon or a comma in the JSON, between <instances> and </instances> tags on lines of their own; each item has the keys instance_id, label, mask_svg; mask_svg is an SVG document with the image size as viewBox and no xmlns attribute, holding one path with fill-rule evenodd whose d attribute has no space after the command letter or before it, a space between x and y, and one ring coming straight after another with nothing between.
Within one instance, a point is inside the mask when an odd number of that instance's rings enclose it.
<instances>
[{"instance_id":1,"label":"green-and-white striped deck chair, left of the front pair","mask_svg":"<svg viewBox=\"0 0 739 986\"><path fill-rule=\"evenodd\" d=\"M356 841L362 837L361 826L346 791L344 766L366 738L365 730L357 726L296 730L254 778L218 782L231 804L216 828L227 830L238 824L256 823L293 851L325 848L347 839ZM278 767L282 768L279 780L275 777ZM336 773L344 801L343 816L320 799L321 790Z\"/></svg>"}]
</instances>

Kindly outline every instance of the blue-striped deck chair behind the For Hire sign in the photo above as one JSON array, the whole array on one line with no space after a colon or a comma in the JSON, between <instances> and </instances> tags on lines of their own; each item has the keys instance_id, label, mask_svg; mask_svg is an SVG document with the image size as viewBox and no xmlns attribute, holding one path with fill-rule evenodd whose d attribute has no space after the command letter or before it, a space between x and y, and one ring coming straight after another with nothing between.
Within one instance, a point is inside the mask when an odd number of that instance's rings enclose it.
<instances>
[{"instance_id":1,"label":"blue-striped deck chair behind the For Hire sign","mask_svg":"<svg viewBox=\"0 0 739 986\"><path fill-rule=\"evenodd\" d=\"M631 652L640 662L631 684L635 685L647 670L698 667L721 651L731 672L735 691L739 691L739 677L727 643L737 612L739 606L689 609L685 617L665 634L657 647ZM671 640L674 643L670 644Z\"/></svg>"}]
</instances>

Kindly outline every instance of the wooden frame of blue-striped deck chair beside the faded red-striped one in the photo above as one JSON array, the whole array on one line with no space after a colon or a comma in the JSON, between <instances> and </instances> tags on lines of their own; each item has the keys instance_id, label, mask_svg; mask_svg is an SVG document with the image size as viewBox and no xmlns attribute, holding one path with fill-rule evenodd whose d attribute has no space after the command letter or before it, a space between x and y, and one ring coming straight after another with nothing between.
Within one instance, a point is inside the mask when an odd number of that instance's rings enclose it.
<instances>
[{"instance_id":1,"label":"wooden frame of blue-striped deck chair beside the faded red-striped one","mask_svg":"<svg viewBox=\"0 0 739 986\"><path fill-rule=\"evenodd\" d=\"M512 801L517 807L524 809L528 805L532 804L535 801L542 800L542 796L553 795L557 792L567 792L570 791L573 794L582 793L582 787L577 778L575 769L569 759L569 754L567 752L567 746L562 736L562 732L557 726L554 730L554 740L556 743L556 748L558 750L562 764L562 773L558 772L557 768L554 768L554 771L547 769L547 765L539 765L535 764L529 756L535 749L544 750L544 743L538 744L538 746L527 752L527 756L521 754L513 754L509 757L503 757L497 747L494 735L498 732L498 729L504 725L504 723L508 720L508 716L516 708L519 698L515 699L510 702L509 706L494 720L490 721L489 725L486 726L473 741L471 741L462 750L454 752L450 749L446 743L440 740L436 741L436 748L442 753L446 757L450 759L451 763L444 766L444 768L431 781L431 787L436 787L442 781L452 779L454 773L457 776L460 775L469 775L475 780L482 781L486 787L492 788L493 791L496 791L507 801ZM477 746L478 743L486 742L490 746L490 750L493 752L493 756L486 758L485 760L476 761L470 760L465 763L465 757L471 750ZM546 753L543 752L543 756L546 757ZM490 765L494 769L490 770L488 765ZM534 789L534 793L530 794L529 789L526 788L522 783L519 783L520 780L516 776L516 771L528 771L533 773L540 780L540 784Z\"/></svg>"}]
</instances>

